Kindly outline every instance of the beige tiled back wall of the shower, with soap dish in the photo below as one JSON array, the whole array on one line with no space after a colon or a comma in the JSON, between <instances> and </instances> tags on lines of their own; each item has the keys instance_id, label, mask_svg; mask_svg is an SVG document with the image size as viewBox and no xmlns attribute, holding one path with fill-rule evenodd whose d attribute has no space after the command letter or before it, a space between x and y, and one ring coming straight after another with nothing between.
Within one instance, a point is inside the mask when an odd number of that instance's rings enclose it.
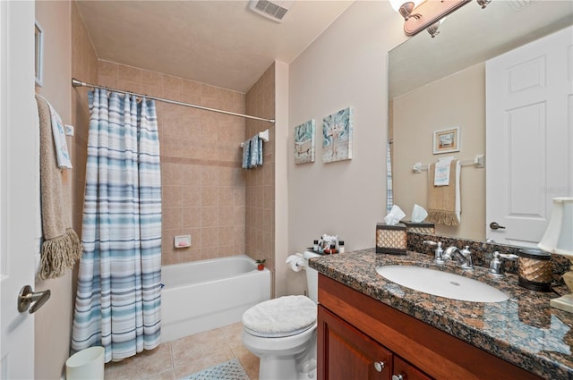
<instances>
[{"instance_id":1,"label":"beige tiled back wall of the shower, with soap dish","mask_svg":"<svg viewBox=\"0 0 573 380\"><path fill-rule=\"evenodd\" d=\"M245 95L228 89L98 62L98 84L200 106L245 112ZM156 102L161 149L162 264L245 253L245 173L240 117ZM175 235L192 237L175 249Z\"/></svg>"}]
</instances>

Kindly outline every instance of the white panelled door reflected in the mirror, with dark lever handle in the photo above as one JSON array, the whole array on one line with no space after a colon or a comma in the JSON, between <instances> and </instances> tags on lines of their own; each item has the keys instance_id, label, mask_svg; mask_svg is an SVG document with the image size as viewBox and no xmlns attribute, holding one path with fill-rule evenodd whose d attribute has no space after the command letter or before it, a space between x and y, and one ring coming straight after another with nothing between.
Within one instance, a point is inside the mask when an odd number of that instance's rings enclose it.
<instances>
[{"instance_id":1,"label":"white panelled door reflected in the mirror, with dark lever handle","mask_svg":"<svg viewBox=\"0 0 573 380\"><path fill-rule=\"evenodd\" d=\"M569 27L486 63L485 231L493 241L535 246L552 198L573 195L572 60Z\"/></svg>"}]
</instances>

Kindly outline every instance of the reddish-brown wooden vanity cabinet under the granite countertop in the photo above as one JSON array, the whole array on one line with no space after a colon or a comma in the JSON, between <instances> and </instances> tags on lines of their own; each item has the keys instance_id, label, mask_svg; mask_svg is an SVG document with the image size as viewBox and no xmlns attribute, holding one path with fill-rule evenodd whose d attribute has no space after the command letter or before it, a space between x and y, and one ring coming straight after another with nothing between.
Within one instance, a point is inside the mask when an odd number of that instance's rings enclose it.
<instances>
[{"instance_id":1,"label":"reddish-brown wooden vanity cabinet under the granite countertop","mask_svg":"<svg viewBox=\"0 0 573 380\"><path fill-rule=\"evenodd\" d=\"M318 324L320 380L541 378L324 274Z\"/></svg>"}]
</instances>

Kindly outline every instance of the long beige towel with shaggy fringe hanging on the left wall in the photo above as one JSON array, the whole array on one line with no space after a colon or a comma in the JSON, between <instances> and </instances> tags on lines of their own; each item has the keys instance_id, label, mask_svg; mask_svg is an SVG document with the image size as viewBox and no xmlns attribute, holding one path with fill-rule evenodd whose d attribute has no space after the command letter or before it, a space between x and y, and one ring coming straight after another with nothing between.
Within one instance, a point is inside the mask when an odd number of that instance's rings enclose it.
<instances>
[{"instance_id":1,"label":"long beige towel with shaggy fringe hanging on the left wall","mask_svg":"<svg viewBox=\"0 0 573 380\"><path fill-rule=\"evenodd\" d=\"M58 168L49 106L36 96L39 116L40 196L42 203L41 261L38 279L56 278L73 268L81 242L70 226L70 197L64 196L64 173Z\"/></svg>"}]
</instances>

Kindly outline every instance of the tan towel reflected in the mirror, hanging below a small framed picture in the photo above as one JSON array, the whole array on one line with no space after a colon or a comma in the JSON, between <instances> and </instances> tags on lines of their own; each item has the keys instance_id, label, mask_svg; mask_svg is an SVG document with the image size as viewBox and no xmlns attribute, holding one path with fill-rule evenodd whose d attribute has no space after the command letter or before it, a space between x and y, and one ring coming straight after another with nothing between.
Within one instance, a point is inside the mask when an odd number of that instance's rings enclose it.
<instances>
[{"instance_id":1,"label":"tan towel reflected in the mirror, hanging below a small framed picture","mask_svg":"<svg viewBox=\"0 0 573 380\"><path fill-rule=\"evenodd\" d=\"M428 217L426 220L435 224L458 225L456 214L457 199L457 160L449 164L449 185L434 186L435 164L428 165Z\"/></svg>"}]
</instances>

